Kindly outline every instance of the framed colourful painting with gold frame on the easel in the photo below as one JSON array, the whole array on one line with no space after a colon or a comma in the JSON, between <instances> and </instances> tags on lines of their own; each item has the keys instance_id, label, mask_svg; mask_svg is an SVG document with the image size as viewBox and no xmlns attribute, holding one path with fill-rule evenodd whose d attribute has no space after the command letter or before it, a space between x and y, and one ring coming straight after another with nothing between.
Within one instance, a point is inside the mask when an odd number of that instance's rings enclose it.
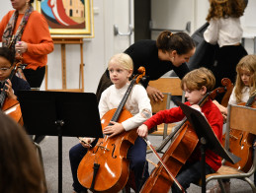
<instances>
[{"instance_id":1,"label":"framed colourful painting with gold frame on the easel","mask_svg":"<svg viewBox=\"0 0 256 193\"><path fill-rule=\"evenodd\" d=\"M51 36L94 37L93 0L35 0Z\"/></svg>"}]
</instances>

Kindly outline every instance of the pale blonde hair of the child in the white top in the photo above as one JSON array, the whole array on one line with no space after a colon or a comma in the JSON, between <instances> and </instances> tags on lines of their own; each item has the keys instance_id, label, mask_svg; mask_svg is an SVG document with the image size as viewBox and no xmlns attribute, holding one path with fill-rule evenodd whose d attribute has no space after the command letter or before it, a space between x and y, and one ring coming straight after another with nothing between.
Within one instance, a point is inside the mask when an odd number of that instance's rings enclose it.
<instances>
[{"instance_id":1,"label":"pale blonde hair of the child in the white top","mask_svg":"<svg viewBox=\"0 0 256 193\"><path fill-rule=\"evenodd\" d=\"M118 53L118 54L112 56L109 61L109 65L112 62L118 63L122 68L124 68L126 70L133 70L132 59L126 53ZM109 69L109 65L108 65L108 69Z\"/></svg>"}]
</instances>

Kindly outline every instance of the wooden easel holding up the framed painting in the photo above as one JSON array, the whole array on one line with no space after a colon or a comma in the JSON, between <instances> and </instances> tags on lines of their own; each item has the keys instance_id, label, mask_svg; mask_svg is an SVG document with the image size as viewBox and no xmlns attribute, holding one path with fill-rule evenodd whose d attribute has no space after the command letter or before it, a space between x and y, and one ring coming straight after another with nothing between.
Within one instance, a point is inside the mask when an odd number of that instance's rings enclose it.
<instances>
[{"instance_id":1,"label":"wooden easel holding up the framed painting","mask_svg":"<svg viewBox=\"0 0 256 193\"><path fill-rule=\"evenodd\" d=\"M83 62L83 37L52 37L54 44L61 46L61 71L62 71L62 89L48 90L48 73L45 68L45 91L62 91L62 92L84 92L84 62ZM79 89L66 89L66 44L80 44L81 63L79 68Z\"/></svg>"}]
</instances>

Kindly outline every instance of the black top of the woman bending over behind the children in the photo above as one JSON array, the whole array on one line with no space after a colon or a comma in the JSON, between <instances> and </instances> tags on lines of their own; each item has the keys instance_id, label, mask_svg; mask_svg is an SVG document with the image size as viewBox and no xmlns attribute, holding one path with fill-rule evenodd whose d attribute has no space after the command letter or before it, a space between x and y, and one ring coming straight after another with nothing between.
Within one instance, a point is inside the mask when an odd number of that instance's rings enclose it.
<instances>
[{"instance_id":1,"label":"black top of the woman bending over behind the children","mask_svg":"<svg viewBox=\"0 0 256 193\"><path fill-rule=\"evenodd\" d=\"M158 48L156 47L155 40L144 39L136 41L128 47L125 53L133 61L133 74L137 74L137 69L140 66L145 68L147 80L142 83L144 87L147 87L149 81L159 79L170 70L174 70L180 79L190 71L186 63L175 67L170 61L160 60L158 58Z\"/></svg>"}]
</instances>

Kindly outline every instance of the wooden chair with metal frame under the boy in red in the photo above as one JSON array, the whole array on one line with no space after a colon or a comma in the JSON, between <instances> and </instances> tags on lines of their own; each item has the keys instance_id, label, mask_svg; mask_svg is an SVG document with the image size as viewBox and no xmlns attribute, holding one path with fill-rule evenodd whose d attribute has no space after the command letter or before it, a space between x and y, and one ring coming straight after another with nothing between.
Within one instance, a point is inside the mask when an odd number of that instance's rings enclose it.
<instances>
[{"instance_id":1,"label":"wooden chair with metal frame under the boy in red","mask_svg":"<svg viewBox=\"0 0 256 193\"><path fill-rule=\"evenodd\" d=\"M241 105L228 105L228 113L227 113L227 125L226 125L226 138L225 141L229 142L229 130L230 128L240 130L240 131L247 131L252 134L256 134L256 109L241 106ZM225 193L224 186L221 179L228 179L228 178L237 178L243 181L246 181L251 189L252 192L256 192L256 187L252 180L249 177L255 172L256 167L256 151L254 152L254 159L251 168L248 172L243 172L240 169L235 169L230 166L221 165L220 168L212 174L206 176L206 183L210 182L213 179L216 179L219 183L221 191Z\"/></svg>"}]
</instances>

